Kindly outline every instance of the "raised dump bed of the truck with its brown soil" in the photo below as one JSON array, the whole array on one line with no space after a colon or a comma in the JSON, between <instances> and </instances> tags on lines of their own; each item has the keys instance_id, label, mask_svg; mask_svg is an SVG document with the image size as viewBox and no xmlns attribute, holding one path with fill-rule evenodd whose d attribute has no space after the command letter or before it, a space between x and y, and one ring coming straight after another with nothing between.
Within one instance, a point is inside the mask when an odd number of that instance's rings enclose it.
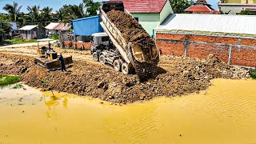
<instances>
[{"instance_id":1,"label":"raised dump bed of the truck with its brown soil","mask_svg":"<svg viewBox=\"0 0 256 144\"><path fill-rule=\"evenodd\" d=\"M149 67L158 64L158 50L154 39L124 9L122 2L102 2L101 26L109 35L122 60L137 74L150 73ZM148 75L148 74L146 74Z\"/></svg>"}]
</instances>

